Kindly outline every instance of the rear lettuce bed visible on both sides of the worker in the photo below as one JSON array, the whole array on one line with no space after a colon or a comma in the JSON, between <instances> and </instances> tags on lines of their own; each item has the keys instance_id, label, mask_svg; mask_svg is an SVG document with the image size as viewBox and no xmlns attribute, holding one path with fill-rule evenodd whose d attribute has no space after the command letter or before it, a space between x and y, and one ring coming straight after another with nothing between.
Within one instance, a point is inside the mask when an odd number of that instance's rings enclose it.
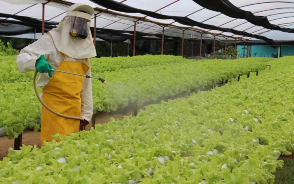
<instances>
[{"instance_id":1,"label":"rear lettuce bed visible on both sides of the worker","mask_svg":"<svg viewBox=\"0 0 294 184\"><path fill-rule=\"evenodd\" d=\"M175 56L136 56L92 59L93 102L97 111L115 111L129 103L142 105L159 97L211 85L222 79L263 70L271 59L193 61ZM108 66L107 69L103 67ZM16 56L0 57L0 128L15 139L26 127L40 127L40 102L33 90L33 72L21 74ZM89 79L85 79L89 80ZM41 93L41 89L39 89Z\"/></svg>"}]
</instances>

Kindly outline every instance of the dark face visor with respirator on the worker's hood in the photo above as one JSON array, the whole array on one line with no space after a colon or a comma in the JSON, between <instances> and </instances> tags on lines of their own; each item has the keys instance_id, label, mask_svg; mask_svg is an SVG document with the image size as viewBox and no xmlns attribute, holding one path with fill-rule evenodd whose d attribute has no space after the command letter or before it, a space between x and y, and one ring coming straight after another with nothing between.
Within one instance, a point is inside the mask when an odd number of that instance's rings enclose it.
<instances>
[{"instance_id":1,"label":"dark face visor with respirator on the worker's hood","mask_svg":"<svg viewBox=\"0 0 294 184\"><path fill-rule=\"evenodd\" d=\"M89 35L90 21L81 17L70 16L70 35L74 38L86 39Z\"/></svg>"}]
</instances>

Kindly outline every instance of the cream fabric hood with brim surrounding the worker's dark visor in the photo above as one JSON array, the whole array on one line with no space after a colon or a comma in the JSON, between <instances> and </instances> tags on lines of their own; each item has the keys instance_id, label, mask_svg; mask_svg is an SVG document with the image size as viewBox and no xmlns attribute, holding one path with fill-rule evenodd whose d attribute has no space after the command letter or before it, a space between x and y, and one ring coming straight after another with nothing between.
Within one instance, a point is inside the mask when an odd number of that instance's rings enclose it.
<instances>
[{"instance_id":1,"label":"cream fabric hood with brim surrounding the worker's dark visor","mask_svg":"<svg viewBox=\"0 0 294 184\"><path fill-rule=\"evenodd\" d=\"M93 13L94 9L91 6L82 3L73 4L67 9L66 15L59 22L58 26L49 31L49 34L52 36L54 46L59 52L62 52L74 59L93 58L97 55L90 30L90 21L92 20ZM84 26L81 26L81 22L77 19L77 23L74 23L74 21L71 23L72 17L84 18L88 20L88 22L85 23L85 21L81 21L84 22ZM71 36L71 29L77 27L77 25L80 25L79 27L82 29L76 28L72 30L72 35L75 36L74 33L76 32L76 36L78 36L78 34L82 37L86 37L86 35L88 35L87 38L82 39L80 37L74 38ZM85 27L87 27L87 29ZM88 33L85 31L81 33L82 31L80 30L87 30Z\"/></svg>"}]
</instances>

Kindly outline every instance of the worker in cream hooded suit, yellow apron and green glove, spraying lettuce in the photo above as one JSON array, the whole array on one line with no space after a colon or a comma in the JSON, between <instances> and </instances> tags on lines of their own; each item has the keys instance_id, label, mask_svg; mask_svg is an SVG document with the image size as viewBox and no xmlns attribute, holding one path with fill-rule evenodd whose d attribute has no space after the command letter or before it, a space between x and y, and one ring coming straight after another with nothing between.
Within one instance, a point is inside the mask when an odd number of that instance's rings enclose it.
<instances>
[{"instance_id":1,"label":"worker in cream hooded suit, yellow apron and green glove, spraying lettuce","mask_svg":"<svg viewBox=\"0 0 294 184\"><path fill-rule=\"evenodd\" d=\"M57 28L21 50L17 56L20 72L41 72L42 61L48 62L50 69L91 76L89 58L96 56L89 23L93 13L93 8L85 4L70 6ZM43 71L46 73L41 73L37 81L37 86L43 89L43 102L55 112L90 122L93 114L91 79L61 72L51 73L50 69ZM79 120L59 117L41 106L42 143L51 141L51 136L57 133L64 136L76 133L79 125Z\"/></svg>"}]
</instances>

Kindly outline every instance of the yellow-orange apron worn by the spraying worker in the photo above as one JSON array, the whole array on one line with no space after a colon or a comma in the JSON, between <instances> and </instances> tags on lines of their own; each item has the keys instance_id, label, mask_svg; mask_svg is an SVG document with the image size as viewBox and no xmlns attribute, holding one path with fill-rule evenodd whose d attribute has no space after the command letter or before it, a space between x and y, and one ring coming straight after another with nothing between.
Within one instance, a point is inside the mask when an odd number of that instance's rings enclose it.
<instances>
[{"instance_id":1,"label":"yellow-orange apron worn by the spraying worker","mask_svg":"<svg viewBox=\"0 0 294 184\"><path fill-rule=\"evenodd\" d=\"M78 61L66 61L61 53L63 61L57 67L57 70L86 75L88 59L85 63ZM55 112L67 116L81 117L81 96L83 82L85 77L62 72L54 72L53 77L44 87L43 102ZM52 135L57 133L63 136L69 136L70 133L79 131L79 120L63 118L53 114L42 105L41 108L41 143L43 141L52 141ZM60 140L56 140L59 142Z\"/></svg>"}]
</instances>

